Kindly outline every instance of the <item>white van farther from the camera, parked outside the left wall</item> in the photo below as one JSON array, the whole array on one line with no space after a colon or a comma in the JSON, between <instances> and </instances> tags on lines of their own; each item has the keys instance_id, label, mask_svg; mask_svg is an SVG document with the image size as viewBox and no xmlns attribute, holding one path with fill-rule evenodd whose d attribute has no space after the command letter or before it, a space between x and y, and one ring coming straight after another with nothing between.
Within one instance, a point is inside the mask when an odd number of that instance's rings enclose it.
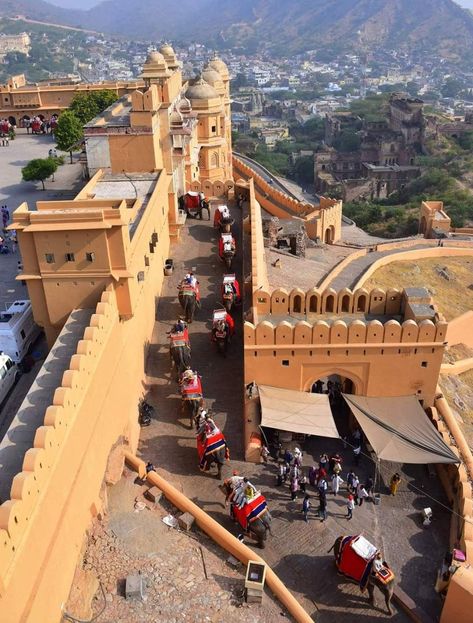
<instances>
[{"instance_id":1,"label":"white van farther from the camera, parked outside the left wall","mask_svg":"<svg viewBox=\"0 0 473 623\"><path fill-rule=\"evenodd\" d=\"M40 331L33 320L30 301L15 301L6 311L0 312L0 352L20 363Z\"/></svg>"}]
</instances>

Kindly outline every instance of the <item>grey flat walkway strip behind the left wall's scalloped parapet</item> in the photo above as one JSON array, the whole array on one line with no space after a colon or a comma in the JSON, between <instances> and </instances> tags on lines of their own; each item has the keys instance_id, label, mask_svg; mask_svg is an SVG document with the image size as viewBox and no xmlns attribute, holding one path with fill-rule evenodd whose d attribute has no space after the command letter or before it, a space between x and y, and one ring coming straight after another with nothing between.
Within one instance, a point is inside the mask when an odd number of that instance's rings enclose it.
<instances>
[{"instance_id":1,"label":"grey flat walkway strip behind the left wall's scalloped parapet","mask_svg":"<svg viewBox=\"0 0 473 623\"><path fill-rule=\"evenodd\" d=\"M47 407L89 325L94 310L76 309L54 343L18 413L0 442L0 502L10 499L13 478L22 471L26 452L33 447L36 431L44 424Z\"/></svg>"}]
</instances>

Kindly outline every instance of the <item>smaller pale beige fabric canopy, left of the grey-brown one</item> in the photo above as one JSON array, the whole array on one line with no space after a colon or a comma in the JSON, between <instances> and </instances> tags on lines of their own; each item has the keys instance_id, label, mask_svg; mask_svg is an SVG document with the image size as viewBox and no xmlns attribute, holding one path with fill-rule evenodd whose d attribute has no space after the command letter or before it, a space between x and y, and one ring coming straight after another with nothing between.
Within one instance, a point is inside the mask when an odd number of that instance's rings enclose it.
<instances>
[{"instance_id":1,"label":"smaller pale beige fabric canopy, left of the grey-brown one","mask_svg":"<svg viewBox=\"0 0 473 623\"><path fill-rule=\"evenodd\" d=\"M327 394L259 385L261 426L338 438Z\"/></svg>"}]
</instances>

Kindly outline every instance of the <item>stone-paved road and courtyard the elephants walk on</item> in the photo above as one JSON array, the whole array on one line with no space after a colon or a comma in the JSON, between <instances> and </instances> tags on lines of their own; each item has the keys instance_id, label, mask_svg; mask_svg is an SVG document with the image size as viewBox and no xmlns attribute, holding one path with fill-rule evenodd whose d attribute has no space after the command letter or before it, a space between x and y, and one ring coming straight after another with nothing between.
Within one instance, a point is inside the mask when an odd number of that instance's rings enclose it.
<instances>
[{"instance_id":1,"label":"stone-paved road and courtyard the elephants walk on","mask_svg":"<svg viewBox=\"0 0 473 623\"><path fill-rule=\"evenodd\" d=\"M235 211L236 208L232 210ZM228 477L233 469L238 469L240 474L248 476L266 496L273 516L273 535L268 538L263 552L257 548L255 551L263 555L317 621L348 623L355 617L367 622L381 621L389 617L384 602L381 606L380 596L379 607L372 608L366 595L362 595L355 584L336 574L333 555L328 552L338 536L363 533L381 548L385 559L397 575L400 588L415 600L427 616L437 618L441 600L434 591L434 584L437 567L448 548L450 515L436 476L429 474L426 466L382 464L378 487L381 503L375 505L366 502L362 507L356 508L351 522L346 520L347 494L344 486L339 496L328 495L328 519L323 523L316 516L318 502L315 490L309 486L312 511L309 523L305 524L301 513L302 496L299 494L299 498L292 502L288 486L276 486L276 463L270 460L267 464L254 465L243 461L242 344L236 339L230 346L227 358L222 358L210 341L212 310L218 307L224 272L217 256L217 234L211 222L188 221L182 236L181 243L172 251L175 272L167 278L163 295L159 299L158 321L149 349L146 389L147 398L155 407L156 415L151 426L142 429L139 448L141 458L152 461L158 473L233 534L238 533L228 515L228 509L224 506L224 498L218 488L219 482L198 470L195 433L189 429L188 417L181 413L175 373L169 365L166 332L180 314L176 288L183 274L192 270L200 282L202 292L202 309L190 326L192 365L202 375L206 405L212 409L218 426L229 442L231 460L224 467L223 475ZM239 230L236 237L238 254L241 249ZM237 276L241 280L241 262L237 268ZM237 337L240 338L240 313L236 314L236 324ZM312 437L302 449L306 470L318 460L321 452L338 451L342 454L343 477L346 477L346 471L352 466L352 452L349 447L344 448L341 440ZM401 472L402 483L396 497L390 497L386 485L394 471ZM373 475L374 464L369 457L362 457L357 473L362 480ZM132 499L130 496L130 504ZM432 507L434 511L434 521L429 530L422 527L421 521L421 510L426 506ZM110 525L114 521L112 510ZM199 541L206 539L200 532L196 534ZM246 542L254 546L252 541L246 539ZM227 558L223 551L217 552L217 555L222 561ZM223 575L226 574L224 572ZM234 575L228 571L227 579L230 577ZM242 579L240 575L240 585L243 584ZM113 597L113 601L117 601L117 608L123 607L124 600L120 596ZM242 613L240 620L273 620L273 606L271 600L264 616L260 610L254 614L250 610ZM230 603L228 613L232 612L232 607L237 606L231 606ZM211 620L218 623L233 620L228 618L228 613L225 616L223 613L221 616L216 614ZM166 618L156 616L154 620L164 623ZM396 610L391 620L400 622L408 619L403 612Z\"/></svg>"}]
</instances>

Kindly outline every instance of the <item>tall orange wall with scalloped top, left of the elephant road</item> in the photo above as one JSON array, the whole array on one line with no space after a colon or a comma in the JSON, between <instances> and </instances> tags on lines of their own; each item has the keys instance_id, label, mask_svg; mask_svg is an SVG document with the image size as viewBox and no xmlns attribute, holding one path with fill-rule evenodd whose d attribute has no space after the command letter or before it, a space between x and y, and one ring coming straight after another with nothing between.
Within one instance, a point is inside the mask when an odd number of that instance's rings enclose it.
<instances>
[{"instance_id":1,"label":"tall orange wall with scalloped top, left of the elephant road","mask_svg":"<svg viewBox=\"0 0 473 623\"><path fill-rule=\"evenodd\" d=\"M120 284L108 285L0 506L2 623L61 620L85 532L107 506L104 483L119 479L123 447L138 444L138 401L168 256L168 220L153 204L130 249L132 274L143 275L130 284L133 313L120 316Z\"/></svg>"}]
</instances>

